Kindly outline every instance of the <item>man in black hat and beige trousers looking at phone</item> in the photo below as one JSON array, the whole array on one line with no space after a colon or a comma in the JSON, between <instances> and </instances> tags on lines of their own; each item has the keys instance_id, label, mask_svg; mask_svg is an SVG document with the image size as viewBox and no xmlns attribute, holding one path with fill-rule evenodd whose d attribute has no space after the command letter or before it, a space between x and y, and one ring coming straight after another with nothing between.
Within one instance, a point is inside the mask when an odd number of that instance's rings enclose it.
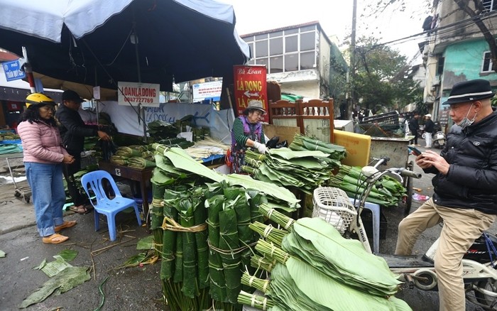
<instances>
[{"instance_id":1,"label":"man in black hat and beige trousers looking at phone","mask_svg":"<svg viewBox=\"0 0 497 311\"><path fill-rule=\"evenodd\" d=\"M435 251L440 310L464 310L461 260L497 214L497 112L487 80L454 84L447 102L454 121L440 155L425 151L416 164L432 180L434 195L398 226L398 255L410 255L422 231L443 222Z\"/></svg>"}]
</instances>

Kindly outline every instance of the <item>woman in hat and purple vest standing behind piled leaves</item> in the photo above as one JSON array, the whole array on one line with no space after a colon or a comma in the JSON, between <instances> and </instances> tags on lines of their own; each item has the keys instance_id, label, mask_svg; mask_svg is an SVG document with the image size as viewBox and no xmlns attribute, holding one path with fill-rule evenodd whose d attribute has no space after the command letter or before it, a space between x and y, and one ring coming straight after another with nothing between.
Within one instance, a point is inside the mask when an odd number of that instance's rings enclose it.
<instances>
[{"instance_id":1,"label":"woman in hat and purple vest standing behind piled leaves","mask_svg":"<svg viewBox=\"0 0 497 311\"><path fill-rule=\"evenodd\" d=\"M233 172L240 173L241 165L244 165L246 148L253 148L258 153L267 151L266 138L262 129L261 119L266 114L260 100L251 100L244 110L244 115L239 116L233 122L231 130L231 163Z\"/></svg>"}]
</instances>

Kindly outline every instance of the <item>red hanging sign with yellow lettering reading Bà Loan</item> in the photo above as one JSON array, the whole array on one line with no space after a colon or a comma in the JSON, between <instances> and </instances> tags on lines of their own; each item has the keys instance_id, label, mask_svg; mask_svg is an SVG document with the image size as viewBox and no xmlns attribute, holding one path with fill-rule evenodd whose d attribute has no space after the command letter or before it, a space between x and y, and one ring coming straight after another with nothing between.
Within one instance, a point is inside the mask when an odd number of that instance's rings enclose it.
<instances>
[{"instance_id":1,"label":"red hanging sign with yellow lettering reading B\u00e0 Loan","mask_svg":"<svg viewBox=\"0 0 497 311\"><path fill-rule=\"evenodd\" d=\"M264 65L236 65L233 66L235 114L241 116L251 100L260 100L266 115L263 122L268 122L268 101L266 84L266 66Z\"/></svg>"}]
</instances>

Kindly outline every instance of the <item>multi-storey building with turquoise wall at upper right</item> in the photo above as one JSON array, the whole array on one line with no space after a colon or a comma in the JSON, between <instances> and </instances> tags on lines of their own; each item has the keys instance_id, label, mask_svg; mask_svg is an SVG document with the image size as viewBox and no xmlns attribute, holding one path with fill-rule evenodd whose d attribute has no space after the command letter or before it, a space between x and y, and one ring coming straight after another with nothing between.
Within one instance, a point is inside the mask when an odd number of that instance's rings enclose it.
<instances>
[{"instance_id":1,"label":"multi-storey building with turquoise wall at upper right","mask_svg":"<svg viewBox=\"0 0 497 311\"><path fill-rule=\"evenodd\" d=\"M465 2L474 16L461 10L454 0L433 1L433 22L427 30L423 50L427 70L425 104L432 105L432 115L445 128L451 121L447 107L442 103L449 97L454 84L484 79L497 89L497 73L492 70L488 41L476 25L481 21L495 40L497 0L481 0L477 6L473 1Z\"/></svg>"}]
</instances>

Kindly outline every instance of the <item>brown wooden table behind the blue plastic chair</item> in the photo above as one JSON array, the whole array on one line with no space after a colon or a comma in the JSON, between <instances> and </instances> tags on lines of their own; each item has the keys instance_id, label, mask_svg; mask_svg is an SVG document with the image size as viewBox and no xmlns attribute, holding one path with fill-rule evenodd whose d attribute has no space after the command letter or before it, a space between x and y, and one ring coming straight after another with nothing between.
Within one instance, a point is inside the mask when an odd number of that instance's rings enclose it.
<instances>
[{"instance_id":1,"label":"brown wooden table behind the blue plastic chair","mask_svg":"<svg viewBox=\"0 0 497 311\"><path fill-rule=\"evenodd\" d=\"M153 174L153 168L145 168L140 170L138 168L130 168L126 165L117 165L109 162L100 161L99 168L106 170L109 174L134 180L140 183L141 198L143 200L143 216L146 219L147 227L150 228L150 217L148 217L148 191L147 187L150 185L150 180Z\"/></svg>"}]
</instances>

